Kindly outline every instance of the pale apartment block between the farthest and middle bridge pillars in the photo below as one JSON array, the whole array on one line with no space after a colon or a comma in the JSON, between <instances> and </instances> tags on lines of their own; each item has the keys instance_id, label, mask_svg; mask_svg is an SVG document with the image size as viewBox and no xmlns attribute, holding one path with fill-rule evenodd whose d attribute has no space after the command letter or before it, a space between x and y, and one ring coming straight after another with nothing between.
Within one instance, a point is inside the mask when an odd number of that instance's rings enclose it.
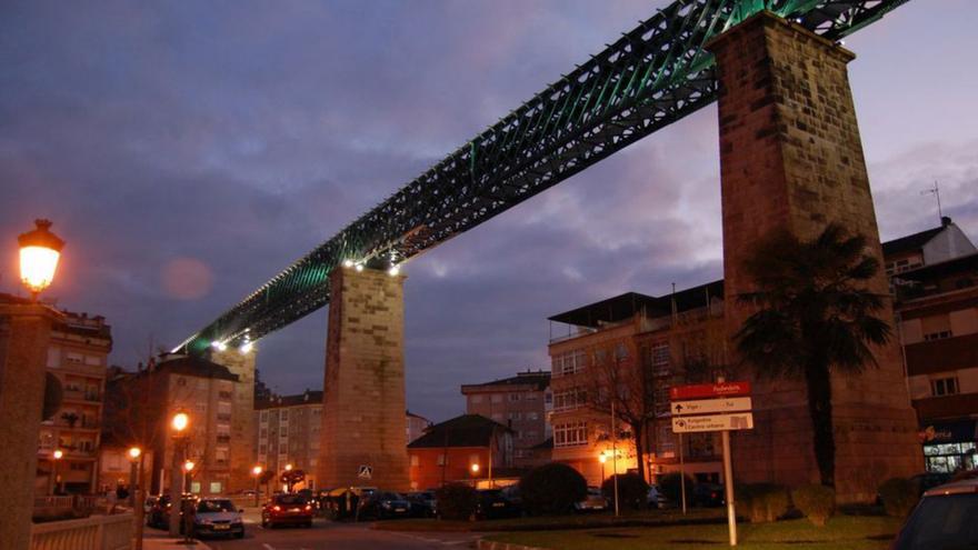
<instances>
[{"instance_id":1,"label":"pale apartment block between the farthest and middle bridge pillars","mask_svg":"<svg viewBox=\"0 0 978 550\"><path fill-rule=\"evenodd\" d=\"M322 392L306 390L295 396L276 396L255 403L258 428L258 463L280 476L286 464L306 473L297 489L317 489L319 430L322 426Z\"/></svg>"}]
</instances>

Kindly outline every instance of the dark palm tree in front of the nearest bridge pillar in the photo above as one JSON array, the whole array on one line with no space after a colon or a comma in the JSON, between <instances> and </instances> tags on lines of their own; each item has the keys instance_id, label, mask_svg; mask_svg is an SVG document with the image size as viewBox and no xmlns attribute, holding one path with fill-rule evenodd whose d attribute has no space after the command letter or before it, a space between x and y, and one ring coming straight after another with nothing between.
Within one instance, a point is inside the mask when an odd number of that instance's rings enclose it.
<instances>
[{"instance_id":1,"label":"dark palm tree in front of the nearest bridge pillar","mask_svg":"<svg viewBox=\"0 0 978 550\"><path fill-rule=\"evenodd\" d=\"M831 373L876 367L874 346L890 340L875 317L887 296L867 290L879 261L866 238L829 224L814 240L781 231L760 241L745 268L756 290L739 294L757 311L735 334L737 350L761 379L804 379L821 483L835 486Z\"/></svg>"}]
</instances>

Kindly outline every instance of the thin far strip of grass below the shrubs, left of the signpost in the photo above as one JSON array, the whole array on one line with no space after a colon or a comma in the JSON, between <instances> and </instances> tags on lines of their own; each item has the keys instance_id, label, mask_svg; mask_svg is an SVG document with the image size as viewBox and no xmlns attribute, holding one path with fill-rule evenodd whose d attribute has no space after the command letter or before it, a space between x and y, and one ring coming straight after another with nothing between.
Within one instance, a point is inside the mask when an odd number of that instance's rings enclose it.
<instances>
[{"instance_id":1,"label":"thin far strip of grass below the shrubs, left of the signpost","mask_svg":"<svg viewBox=\"0 0 978 550\"><path fill-rule=\"evenodd\" d=\"M605 512L489 521L406 519L378 521L375 528L388 531L552 531L600 527L647 527L679 522L721 522L723 518L726 518L726 509L711 508L692 509L686 516L679 510L642 510L623 512L620 518L616 518L611 512Z\"/></svg>"}]
</instances>

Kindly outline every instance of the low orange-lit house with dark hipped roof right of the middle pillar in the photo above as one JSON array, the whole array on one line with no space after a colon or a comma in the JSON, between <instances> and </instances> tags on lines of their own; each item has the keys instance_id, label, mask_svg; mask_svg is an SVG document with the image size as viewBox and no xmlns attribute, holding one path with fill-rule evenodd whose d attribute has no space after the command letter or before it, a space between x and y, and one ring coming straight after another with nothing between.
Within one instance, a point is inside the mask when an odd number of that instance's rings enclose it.
<instances>
[{"instance_id":1,"label":"low orange-lit house with dark hipped roof right of the middle pillar","mask_svg":"<svg viewBox=\"0 0 978 550\"><path fill-rule=\"evenodd\" d=\"M433 489L448 482L478 484L490 476L508 476L512 448L512 430L479 414L435 424L408 444L411 489Z\"/></svg>"}]
</instances>

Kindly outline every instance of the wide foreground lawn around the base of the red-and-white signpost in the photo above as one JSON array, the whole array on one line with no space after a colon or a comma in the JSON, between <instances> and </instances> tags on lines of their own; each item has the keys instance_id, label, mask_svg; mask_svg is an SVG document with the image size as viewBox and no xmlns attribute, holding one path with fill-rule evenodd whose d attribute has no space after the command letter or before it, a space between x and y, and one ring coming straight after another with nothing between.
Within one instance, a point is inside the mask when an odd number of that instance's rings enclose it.
<instances>
[{"instance_id":1,"label":"wide foreground lawn around the base of the red-and-white signpost","mask_svg":"<svg viewBox=\"0 0 978 550\"><path fill-rule=\"evenodd\" d=\"M832 518L818 528L808 520L738 523L738 548L745 550L884 550L899 521L882 517ZM575 531L508 532L487 537L555 550L703 550L729 546L726 524L605 528Z\"/></svg>"}]
</instances>

